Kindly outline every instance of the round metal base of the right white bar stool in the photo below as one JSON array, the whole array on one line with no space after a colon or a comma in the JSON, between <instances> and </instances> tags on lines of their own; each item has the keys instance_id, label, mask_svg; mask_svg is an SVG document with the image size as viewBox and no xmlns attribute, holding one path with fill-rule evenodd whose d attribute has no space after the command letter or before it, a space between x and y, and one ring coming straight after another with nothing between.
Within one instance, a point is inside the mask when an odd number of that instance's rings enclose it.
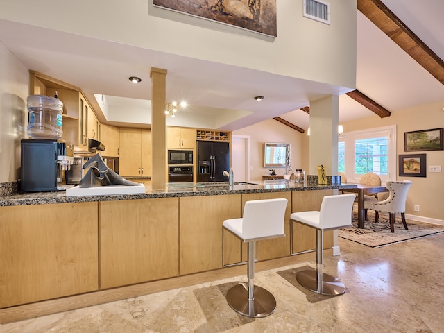
<instances>
[{"instance_id":1,"label":"round metal base of the right white bar stool","mask_svg":"<svg viewBox=\"0 0 444 333\"><path fill-rule=\"evenodd\" d=\"M345 285L334 276L322 273L322 281L318 285L316 271L300 271L296 274L296 280L302 287L325 296L338 296L345 293Z\"/></svg>"}]
</instances>

